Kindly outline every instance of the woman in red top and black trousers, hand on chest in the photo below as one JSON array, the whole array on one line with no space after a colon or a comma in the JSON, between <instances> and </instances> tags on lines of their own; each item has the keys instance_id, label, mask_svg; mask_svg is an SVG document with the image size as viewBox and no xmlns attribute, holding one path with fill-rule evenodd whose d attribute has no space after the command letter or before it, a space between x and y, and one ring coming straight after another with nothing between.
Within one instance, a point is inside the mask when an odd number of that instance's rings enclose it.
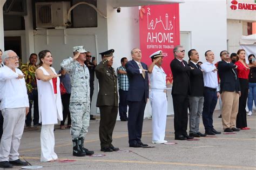
<instances>
[{"instance_id":1,"label":"woman in red top and black trousers, hand on chest","mask_svg":"<svg viewBox=\"0 0 256 170\"><path fill-rule=\"evenodd\" d=\"M248 96L248 90L249 90L249 83L248 83L248 76L250 72L250 67L245 62L245 50L240 49L237 52L238 61L235 62L235 65L237 65L237 72L238 72L238 78L241 86L241 96L239 98L239 107L238 107L238 114L237 114L237 128L240 128L241 130L250 130L250 128L247 127L247 121L246 121L246 100Z\"/></svg>"}]
</instances>

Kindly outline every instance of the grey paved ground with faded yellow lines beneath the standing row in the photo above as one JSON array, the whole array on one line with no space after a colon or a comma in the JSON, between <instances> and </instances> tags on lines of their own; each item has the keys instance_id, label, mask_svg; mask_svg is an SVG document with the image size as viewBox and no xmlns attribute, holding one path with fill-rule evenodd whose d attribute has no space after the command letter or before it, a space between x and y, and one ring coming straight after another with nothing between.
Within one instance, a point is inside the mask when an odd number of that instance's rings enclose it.
<instances>
[{"instance_id":1,"label":"grey paved ground with faded yellow lines beneath the standing row","mask_svg":"<svg viewBox=\"0 0 256 170\"><path fill-rule=\"evenodd\" d=\"M222 131L218 111L214 113L214 127ZM55 151L59 161L42 163L40 159L40 131L26 130L22 137L19 153L31 165L43 169L256 169L256 116L247 117L251 130L235 134L220 134L216 138L198 138L199 141L174 140L173 117L167 118L166 140L174 145L156 145L154 148L129 148L127 123L117 121L113 134L113 145L131 152L100 152L99 120L90 122L85 146L104 157L73 157L69 130L55 131ZM201 132L203 124L200 126ZM145 120L142 141L151 144L151 120ZM66 160L74 160L67 162ZM64 161L64 162L63 162ZM15 166L14 169L21 167Z\"/></svg>"}]
</instances>

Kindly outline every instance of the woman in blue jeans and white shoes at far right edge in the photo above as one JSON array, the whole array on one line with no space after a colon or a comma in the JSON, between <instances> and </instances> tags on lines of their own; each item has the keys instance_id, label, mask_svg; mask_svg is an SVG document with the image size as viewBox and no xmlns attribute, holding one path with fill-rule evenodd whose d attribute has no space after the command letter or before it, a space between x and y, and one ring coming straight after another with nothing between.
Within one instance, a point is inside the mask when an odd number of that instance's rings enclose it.
<instances>
[{"instance_id":1,"label":"woman in blue jeans and white shoes at far right edge","mask_svg":"<svg viewBox=\"0 0 256 170\"><path fill-rule=\"evenodd\" d=\"M253 100L254 105L256 106L256 62L255 62L255 56L253 54L248 56L250 67L250 73L249 73L249 94L248 94L248 100L247 100L247 106L249 109L248 115L252 115L252 106L253 106Z\"/></svg>"}]
</instances>

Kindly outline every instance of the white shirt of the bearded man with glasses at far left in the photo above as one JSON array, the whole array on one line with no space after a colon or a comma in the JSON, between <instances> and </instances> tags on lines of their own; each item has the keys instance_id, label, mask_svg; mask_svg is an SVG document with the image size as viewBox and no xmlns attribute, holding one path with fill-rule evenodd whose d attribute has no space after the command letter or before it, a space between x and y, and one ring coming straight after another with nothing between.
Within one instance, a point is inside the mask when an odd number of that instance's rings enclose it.
<instances>
[{"instance_id":1,"label":"white shirt of the bearded man with glasses at far left","mask_svg":"<svg viewBox=\"0 0 256 170\"><path fill-rule=\"evenodd\" d=\"M19 69L14 72L8 66L0 71L1 109L29 107L25 79L17 79L18 74L23 73Z\"/></svg>"}]
</instances>

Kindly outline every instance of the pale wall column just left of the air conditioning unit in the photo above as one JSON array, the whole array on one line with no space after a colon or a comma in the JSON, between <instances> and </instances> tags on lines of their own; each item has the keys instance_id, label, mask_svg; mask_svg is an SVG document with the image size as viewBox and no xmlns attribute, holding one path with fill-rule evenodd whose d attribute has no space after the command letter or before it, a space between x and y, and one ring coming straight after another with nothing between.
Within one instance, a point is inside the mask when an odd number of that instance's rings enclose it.
<instances>
[{"instance_id":1,"label":"pale wall column just left of the air conditioning unit","mask_svg":"<svg viewBox=\"0 0 256 170\"><path fill-rule=\"evenodd\" d=\"M31 53L35 53L35 44L33 36L33 18L31 0L26 0L28 15L24 16L25 20L25 37L26 37L26 58L29 59Z\"/></svg>"}]
</instances>

